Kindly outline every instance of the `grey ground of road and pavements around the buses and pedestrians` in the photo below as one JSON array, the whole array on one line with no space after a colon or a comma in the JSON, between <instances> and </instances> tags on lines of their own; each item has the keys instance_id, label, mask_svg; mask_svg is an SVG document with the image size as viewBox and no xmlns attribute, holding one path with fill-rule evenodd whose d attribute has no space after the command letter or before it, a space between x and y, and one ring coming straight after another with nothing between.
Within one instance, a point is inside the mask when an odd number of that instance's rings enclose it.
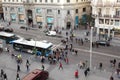
<instances>
[{"instance_id":1,"label":"grey ground of road and pavements around the buses and pedestrians","mask_svg":"<svg viewBox=\"0 0 120 80\"><path fill-rule=\"evenodd\" d=\"M3 24L5 25L5 24ZM45 29L38 29L38 28L31 28L30 30L25 30L25 29L20 29L19 24L11 24L9 27L12 27L14 29L14 34L22 36L24 38L32 38L34 40L47 40L49 42L53 43L52 49L55 50L57 48L65 48L65 44L61 43L62 39L65 39L66 31L69 32L69 30L62 30L62 38L58 37L50 37L46 36L45 33L43 32ZM26 25L24 25L26 26ZM84 39L85 35L84 33L87 30L75 30L75 36L80 39ZM78 50L78 55L75 55L73 53L68 53L68 58L69 58L69 64L66 64L64 61L63 63L63 70L59 70L59 64L57 63L56 65L49 65L47 59L45 61L45 69L49 71L50 73L50 79L49 80L109 80L110 76L114 76L114 80L119 80L119 78L116 75L116 68L118 62L120 62L120 42L119 40L114 40L111 42L111 46L99 46L93 47L92 50L92 71L90 72L89 76L86 78L84 76L84 70L85 69L79 69L78 64L80 61L85 62L86 60L88 61L87 66L90 65L90 43L89 42L84 42L82 45L81 43L76 43L75 38L73 42L70 42L73 44L73 48L75 50ZM70 45L70 43L68 45ZM12 45L10 47L12 50L12 53L15 54L22 54L23 57L23 63L21 64L21 72L20 72L20 77L23 78L26 74L28 74L30 71L39 68L41 69L41 62L40 58L36 58L34 55L28 54L28 53L22 53L22 52L17 52L12 49ZM30 60L30 71L26 71L25 67L25 62L26 59ZM113 68L110 65L110 60L116 59L117 64L116 67ZM103 69L100 71L98 69L99 63L103 63ZM11 55L3 51L0 54L0 69L4 69L4 71L8 75L8 80L15 80L16 78L16 73L17 73L17 64L14 58L11 57ZM74 72L75 70L79 70L79 79L75 79L74 77Z\"/></svg>"}]
</instances>

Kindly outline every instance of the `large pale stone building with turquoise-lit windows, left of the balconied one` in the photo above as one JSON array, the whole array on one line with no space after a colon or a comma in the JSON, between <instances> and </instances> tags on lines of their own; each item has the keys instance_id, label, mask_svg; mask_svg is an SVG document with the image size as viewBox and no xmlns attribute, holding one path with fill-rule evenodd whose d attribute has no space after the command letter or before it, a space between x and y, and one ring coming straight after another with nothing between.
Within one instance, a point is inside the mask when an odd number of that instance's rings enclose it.
<instances>
[{"instance_id":1,"label":"large pale stone building with turquoise-lit windows, left of the balconied one","mask_svg":"<svg viewBox=\"0 0 120 80\"><path fill-rule=\"evenodd\" d=\"M20 24L74 28L90 14L88 0L2 0L4 18Z\"/></svg>"}]
</instances>

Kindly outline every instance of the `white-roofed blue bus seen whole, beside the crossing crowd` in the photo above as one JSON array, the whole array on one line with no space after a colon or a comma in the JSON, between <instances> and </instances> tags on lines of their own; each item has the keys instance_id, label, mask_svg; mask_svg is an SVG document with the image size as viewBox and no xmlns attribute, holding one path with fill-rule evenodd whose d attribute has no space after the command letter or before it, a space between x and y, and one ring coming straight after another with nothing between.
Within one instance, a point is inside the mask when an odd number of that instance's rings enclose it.
<instances>
[{"instance_id":1,"label":"white-roofed blue bus seen whole, beside the crossing crowd","mask_svg":"<svg viewBox=\"0 0 120 80\"><path fill-rule=\"evenodd\" d=\"M21 52L27 52L31 54L37 54L41 56L48 56L52 49L53 44L46 40L43 41L34 41L26 39L18 39L12 41L13 49Z\"/></svg>"}]
</instances>

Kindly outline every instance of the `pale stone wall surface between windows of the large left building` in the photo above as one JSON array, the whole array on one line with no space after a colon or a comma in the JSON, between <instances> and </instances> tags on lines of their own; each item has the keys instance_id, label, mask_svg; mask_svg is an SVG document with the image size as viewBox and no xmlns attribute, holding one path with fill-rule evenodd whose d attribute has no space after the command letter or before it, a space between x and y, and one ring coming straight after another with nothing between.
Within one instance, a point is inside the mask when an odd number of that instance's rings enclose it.
<instances>
[{"instance_id":1,"label":"pale stone wall surface between windows of the large left building","mask_svg":"<svg viewBox=\"0 0 120 80\"><path fill-rule=\"evenodd\" d=\"M26 1L26 0L23 0ZM33 16L33 24L37 24L36 22L36 16L42 16L43 20L42 20L42 26L46 26L47 25L47 16L51 16L54 18L54 23L53 23L53 27L66 27L66 22L65 22L65 18L67 18L67 10L70 10L70 15L72 18L72 27L74 27L75 25L75 17L79 16L79 18L81 18L81 16L84 14L82 9L84 7L86 7L86 13L90 13L90 2L88 2L87 0L85 1L81 1L78 0L78 2L76 2L76 0L70 0L70 3L67 3L66 0L59 0L60 2L58 3L57 0L53 0L53 3L51 3L51 0L48 0L48 2L46 3L45 0L42 0L42 2L39 2L39 0L37 0L37 2L35 2L35 0L31 0L30 1L30 7L27 6L25 7L28 3L23 4L23 1L21 2L21 0L15 0L15 2L9 2L9 0L6 0L6 2L4 2L4 0L2 0L3 2L3 6L4 8L7 7L7 11L5 11L4 9L4 17L7 21L11 20L10 17L10 8L9 6L13 6L16 11L14 12L16 14L16 23L20 23L19 22L19 14L20 12L18 12L18 7L24 7L24 12L22 14L24 14L24 22L25 24L28 23L28 18L27 18L27 10L32 10L32 16ZM31 5L32 2L34 3L34 5ZM8 4L7 4L8 3ZM10 4L11 3L11 4ZM36 13L36 9L37 8L41 8L42 9L42 13L38 14ZM47 9L51 9L52 13L51 14L47 14ZM79 9L78 14L75 13L75 10ZM60 10L60 14L58 14L58 10ZM7 16L7 17L6 17Z\"/></svg>"}]
</instances>

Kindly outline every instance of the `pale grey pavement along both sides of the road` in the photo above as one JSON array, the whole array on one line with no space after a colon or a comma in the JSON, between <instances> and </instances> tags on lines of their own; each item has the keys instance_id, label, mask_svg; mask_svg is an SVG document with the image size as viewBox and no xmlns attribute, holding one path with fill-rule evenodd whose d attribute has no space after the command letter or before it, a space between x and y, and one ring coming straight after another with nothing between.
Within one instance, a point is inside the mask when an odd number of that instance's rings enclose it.
<instances>
[{"instance_id":1,"label":"pale grey pavement along both sides of the road","mask_svg":"<svg viewBox=\"0 0 120 80\"><path fill-rule=\"evenodd\" d=\"M3 25L6 25L6 23L3 23ZM11 24L10 27L12 28L18 28L20 26L26 26L25 24ZM44 29L43 29L44 30ZM65 34L67 30L62 31L62 34ZM83 38L84 37L84 33L87 30L76 30L75 31L75 35ZM114 39L112 40L114 42L114 46L119 46L118 43L120 42L119 39ZM116 44L115 44L116 43ZM16 54L19 54L20 52L14 52ZM40 62L40 58L35 58L33 55L30 54L23 54L21 53L23 56L23 63L20 65L21 67L21 72L20 72L20 78L22 80L22 78L28 74L30 71L38 68L41 69L41 62ZM30 71L26 70L26 59L29 59L30 61ZM70 63L70 64L66 64L64 62L63 63L63 70L59 70L58 69L58 64L56 65L49 65L49 63L46 61L46 63L44 63L45 66L45 70L48 70L50 73L50 79L49 80L109 80L110 76L113 75L114 80L120 80L117 75L116 72L113 71L112 73L106 70L102 70L100 71L99 69L93 68L92 71L89 73L88 77L84 76L84 69L79 69L77 64L74 63ZM0 69L4 69L4 71L6 72L7 76L8 76L8 80L16 80L16 73L17 73L17 63L15 58L12 58L11 55L7 52L3 52L0 54ZM74 72L76 71L76 69L78 69L79 71L79 78L76 79L74 77ZM0 79L1 80L1 79Z\"/></svg>"}]
</instances>

